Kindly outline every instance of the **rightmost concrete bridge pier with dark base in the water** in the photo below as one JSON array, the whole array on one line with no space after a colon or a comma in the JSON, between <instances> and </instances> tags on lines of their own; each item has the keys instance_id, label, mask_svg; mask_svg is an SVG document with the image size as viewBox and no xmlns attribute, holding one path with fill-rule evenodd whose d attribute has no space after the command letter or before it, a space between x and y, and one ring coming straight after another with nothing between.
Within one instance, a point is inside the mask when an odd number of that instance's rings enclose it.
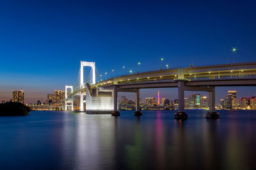
<instances>
[{"instance_id":1,"label":"rightmost concrete bridge pier with dark base in the water","mask_svg":"<svg viewBox=\"0 0 256 170\"><path fill-rule=\"evenodd\" d=\"M212 87L211 91L209 91L209 112L206 114L206 118L220 118L219 113L215 111L215 87Z\"/></svg>"}]
</instances>

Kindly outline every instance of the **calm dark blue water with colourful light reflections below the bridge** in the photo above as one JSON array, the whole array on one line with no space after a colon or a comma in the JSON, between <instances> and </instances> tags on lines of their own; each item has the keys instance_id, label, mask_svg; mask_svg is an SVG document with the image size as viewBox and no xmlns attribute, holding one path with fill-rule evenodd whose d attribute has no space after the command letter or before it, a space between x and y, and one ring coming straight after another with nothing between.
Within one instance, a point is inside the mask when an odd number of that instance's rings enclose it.
<instances>
[{"instance_id":1,"label":"calm dark blue water with colourful light reflections below the bridge","mask_svg":"<svg viewBox=\"0 0 256 170\"><path fill-rule=\"evenodd\" d=\"M255 169L256 112L32 111L0 117L0 169Z\"/></svg>"}]
</instances>

